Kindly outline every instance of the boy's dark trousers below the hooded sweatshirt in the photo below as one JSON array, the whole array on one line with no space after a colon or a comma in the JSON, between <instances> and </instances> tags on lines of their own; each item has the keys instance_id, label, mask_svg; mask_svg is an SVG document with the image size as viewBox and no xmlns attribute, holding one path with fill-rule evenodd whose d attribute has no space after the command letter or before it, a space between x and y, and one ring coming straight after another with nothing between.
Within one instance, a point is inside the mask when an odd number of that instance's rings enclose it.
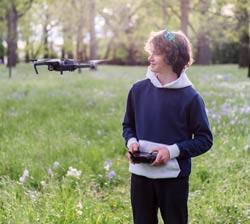
<instances>
[{"instance_id":1,"label":"boy's dark trousers below the hooded sweatshirt","mask_svg":"<svg viewBox=\"0 0 250 224\"><path fill-rule=\"evenodd\" d=\"M165 224L187 224L188 177L149 179L132 174L134 224L157 224L158 208Z\"/></svg>"}]
</instances>

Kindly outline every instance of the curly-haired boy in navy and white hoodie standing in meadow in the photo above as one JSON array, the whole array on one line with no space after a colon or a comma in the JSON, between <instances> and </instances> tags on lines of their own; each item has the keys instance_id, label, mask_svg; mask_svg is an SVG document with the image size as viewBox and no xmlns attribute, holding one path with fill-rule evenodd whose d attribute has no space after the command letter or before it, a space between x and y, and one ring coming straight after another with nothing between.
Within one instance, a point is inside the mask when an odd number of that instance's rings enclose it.
<instances>
[{"instance_id":1,"label":"curly-haired boy in navy and white hoodie standing in meadow","mask_svg":"<svg viewBox=\"0 0 250 224\"><path fill-rule=\"evenodd\" d=\"M191 157L212 147L204 102L186 76L191 44L182 32L152 33L146 79L135 83L127 99L123 137L129 152L157 152L152 164L131 161L131 204L135 224L188 221Z\"/></svg>"}]
</instances>

